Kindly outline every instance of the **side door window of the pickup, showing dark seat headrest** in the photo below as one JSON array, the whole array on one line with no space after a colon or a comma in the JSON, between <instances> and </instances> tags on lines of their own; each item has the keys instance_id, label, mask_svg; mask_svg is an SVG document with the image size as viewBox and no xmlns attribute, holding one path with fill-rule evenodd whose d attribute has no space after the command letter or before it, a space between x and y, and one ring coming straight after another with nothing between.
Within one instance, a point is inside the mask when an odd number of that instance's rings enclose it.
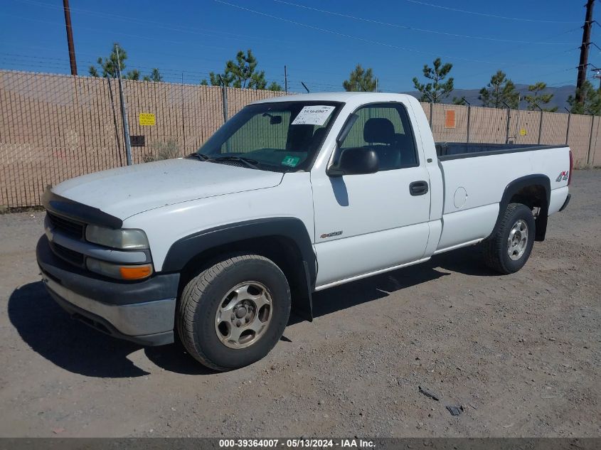
<instances>
[{"instance_id":1,"label":"side door window of the pickup, showing dark seat headrest","mask_svg":"<svg viewBox=\"0 0 601 450\"><path fill-rule=\"evenodd\" d=\"M380 171L418 165L415 140L403 105L366 105L355 114L358 118L341 143L341 150L362 147L376 151Z\"/></svg>"}]
</instances>

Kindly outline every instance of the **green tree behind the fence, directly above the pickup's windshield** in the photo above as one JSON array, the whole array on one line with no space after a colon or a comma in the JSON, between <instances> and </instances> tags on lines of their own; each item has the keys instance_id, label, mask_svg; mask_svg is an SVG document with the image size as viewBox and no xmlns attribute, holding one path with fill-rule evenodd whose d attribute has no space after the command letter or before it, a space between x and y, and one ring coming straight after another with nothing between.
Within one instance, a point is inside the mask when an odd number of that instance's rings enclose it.
<instances>
[{"instance_id":1,"label":"green tree behind the fence, directly above the pickup's windshield","mask_svg":"<svg viewBox=\"0 0 601 450\"><path fill-rule=\"evenodd\" d=\"M223 73L216 74L211 72L208 74L213 86L228 86L228 87L242 87L248 89L259 89L263 90L267 86L267 80L265 80L265 70L260 72L257 70L257 58L252 54L252 50L239 50L236 54L236 59L229 60L225 63L225 70ZM206 80L201 81L201 85L208 85ZM277 82L272 82L270 90L282 90L282 86L278 85Z\"/></svg>"}]
</instances>

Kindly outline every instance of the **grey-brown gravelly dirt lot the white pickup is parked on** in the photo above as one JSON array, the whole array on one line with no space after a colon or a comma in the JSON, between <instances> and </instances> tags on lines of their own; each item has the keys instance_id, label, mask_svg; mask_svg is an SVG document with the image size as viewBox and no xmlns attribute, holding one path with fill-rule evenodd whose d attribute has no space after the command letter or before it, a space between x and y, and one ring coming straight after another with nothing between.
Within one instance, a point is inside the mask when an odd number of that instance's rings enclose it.
<instances>
[{"instance_id":1,"label":"grey-brown gravelly dirt lot the white pickup is parked on","mask_svg":"<svg viewBox=\"0 0 601 450\"><path fill-rule=\"evenodd\" d=\"M601 171L571 191L521 272L467 249L322 291L230 373L70 320L39 282L43 213L1 215L0 436L601 436Z\"/></svg>"}]
</instances>

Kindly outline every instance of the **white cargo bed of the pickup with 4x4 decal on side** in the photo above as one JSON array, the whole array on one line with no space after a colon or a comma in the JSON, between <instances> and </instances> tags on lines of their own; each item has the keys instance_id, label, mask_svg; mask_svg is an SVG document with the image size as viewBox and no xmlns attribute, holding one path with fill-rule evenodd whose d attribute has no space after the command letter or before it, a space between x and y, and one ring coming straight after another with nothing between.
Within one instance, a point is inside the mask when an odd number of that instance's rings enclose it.
<instances>
[{"instance_id":1,"label":"white cargo bed of the pickup with 4x4 decal on side","mask_svg":"<svg viewBox=\"0 0 601 450\"><path fill-rule=\"evenodd\" d=\"M551 181L548 213L557 212L568 195L567 146L522 144L436 144L444 185L442 235L436 252L490 235L504 187L523 177ZM479 158L477 156L486 156ZM567 178L566 178L567 180Z\"/></svg>"}]
</instances>

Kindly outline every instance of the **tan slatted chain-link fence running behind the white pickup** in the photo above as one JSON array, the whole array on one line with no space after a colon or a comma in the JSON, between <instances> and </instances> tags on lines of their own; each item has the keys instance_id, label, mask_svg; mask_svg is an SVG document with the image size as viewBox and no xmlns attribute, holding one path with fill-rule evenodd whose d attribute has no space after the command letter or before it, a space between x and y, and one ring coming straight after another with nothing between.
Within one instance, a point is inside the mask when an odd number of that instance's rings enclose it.
<instances>
[{"instance_id":1,"label":"tan slatted chain-link fence running behind the white pickup","mask_svg":"<svg viewBox=\"0 0 601 450\"><path fill-rule=\"evenodd\" d=\"M123 80L123 86L134 164L189 154L224 117L250 102L284 94L133 80ZM436 141L567 141L575 166L601 166L601 117L428 103L422 107ZM39 205L48 185L124 166L120 108L117 80L0 70L0 207Z\"/></svg>"}]
</instances>

